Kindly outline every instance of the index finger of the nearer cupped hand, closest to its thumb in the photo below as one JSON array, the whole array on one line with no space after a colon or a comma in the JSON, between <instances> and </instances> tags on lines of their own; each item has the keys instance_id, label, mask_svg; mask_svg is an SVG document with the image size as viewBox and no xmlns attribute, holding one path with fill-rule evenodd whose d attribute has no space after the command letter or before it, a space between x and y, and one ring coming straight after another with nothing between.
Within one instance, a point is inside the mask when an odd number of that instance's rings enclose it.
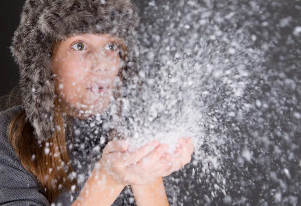
<instances>
[{"instance_id":1,"label":"index finger of the nearer cupped hand, closest to its thumb","mask_svg":"<svg viewBox=\"0 0 301 206\"><path fill-rule=\"evenodd\" d=\"M139 162L142 158L152 152L159 145L160 143L158 141L153 141L137 149L136 151L128 153L127 165Z\"/></svg>"}]
</instances>

